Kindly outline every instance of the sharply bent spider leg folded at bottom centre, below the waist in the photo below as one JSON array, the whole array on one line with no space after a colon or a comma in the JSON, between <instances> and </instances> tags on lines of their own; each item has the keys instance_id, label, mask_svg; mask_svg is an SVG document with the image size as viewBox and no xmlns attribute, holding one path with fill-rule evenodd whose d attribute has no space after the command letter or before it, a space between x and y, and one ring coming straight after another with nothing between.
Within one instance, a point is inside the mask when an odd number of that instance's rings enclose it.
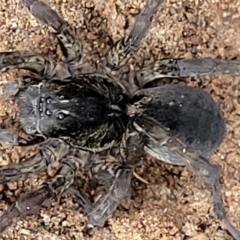
<instances>
[{"instance_id":1,"label":"sharply bent spider leg folded at bottom centre, below the waist","mask_svg":"<svg viewBox=\"0 0 240 240\"><path fill-rule=\"evenodd\" d=\"M108 192L94 205L76 190L69 190L88 214L91 224L103 227L129 193L134 167L142 159L144 144L143 134L128 129L123 136L120 151L115 153L120 162L106 162L99 155L93 155L95 159L91 160L91 174L100 182L110 183Z\"/></svg>"}]
</instances>

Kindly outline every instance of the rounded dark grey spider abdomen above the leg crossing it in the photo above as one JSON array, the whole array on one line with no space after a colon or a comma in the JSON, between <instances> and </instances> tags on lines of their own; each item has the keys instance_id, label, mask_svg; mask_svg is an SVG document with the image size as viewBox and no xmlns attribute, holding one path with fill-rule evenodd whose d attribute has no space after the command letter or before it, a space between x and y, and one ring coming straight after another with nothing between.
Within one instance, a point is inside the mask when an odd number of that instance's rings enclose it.
<instances>
[{"instance_id":1,"label":"rounded dark grey spider abdomen above the leg crossing it","mask_svg":"<svg viewBox=\"0 0 240 240\"><path fill-rule=\"evenodd\" d=\"M223 141L225 120L220 107L207 92L174 84L141 92L152 98L144 113L199 154L211 155Z\"/></svg>"}]
</instances>

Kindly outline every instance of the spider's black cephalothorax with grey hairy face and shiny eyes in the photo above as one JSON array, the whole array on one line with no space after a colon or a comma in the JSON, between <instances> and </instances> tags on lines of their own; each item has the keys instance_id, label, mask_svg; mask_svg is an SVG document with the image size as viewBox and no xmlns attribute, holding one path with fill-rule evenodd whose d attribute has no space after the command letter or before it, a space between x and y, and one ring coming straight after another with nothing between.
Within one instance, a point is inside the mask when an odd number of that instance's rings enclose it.
<instances>
[{"instance_id":1,"label":"spider's black cephalothorax with grey hairy face and shiny eyes","mask_svg":"<svg viewBox=\"0 0 240 240\"><path fill-rule=\"evenodd\" d=\"M104 76L98 75L102 84L99 89L96 80L96 75L89 74L64 81L42 79L15 89L13 95L11 86L19 85L15 81L5 87L4 94L7 98L18 96L20 122L28 134L70 137L78 146L95 149L120 141L126 129L129 99L121 85L104 82ZM40 80L32 77L30 81Z\"/></svg>"}]
</instances>

